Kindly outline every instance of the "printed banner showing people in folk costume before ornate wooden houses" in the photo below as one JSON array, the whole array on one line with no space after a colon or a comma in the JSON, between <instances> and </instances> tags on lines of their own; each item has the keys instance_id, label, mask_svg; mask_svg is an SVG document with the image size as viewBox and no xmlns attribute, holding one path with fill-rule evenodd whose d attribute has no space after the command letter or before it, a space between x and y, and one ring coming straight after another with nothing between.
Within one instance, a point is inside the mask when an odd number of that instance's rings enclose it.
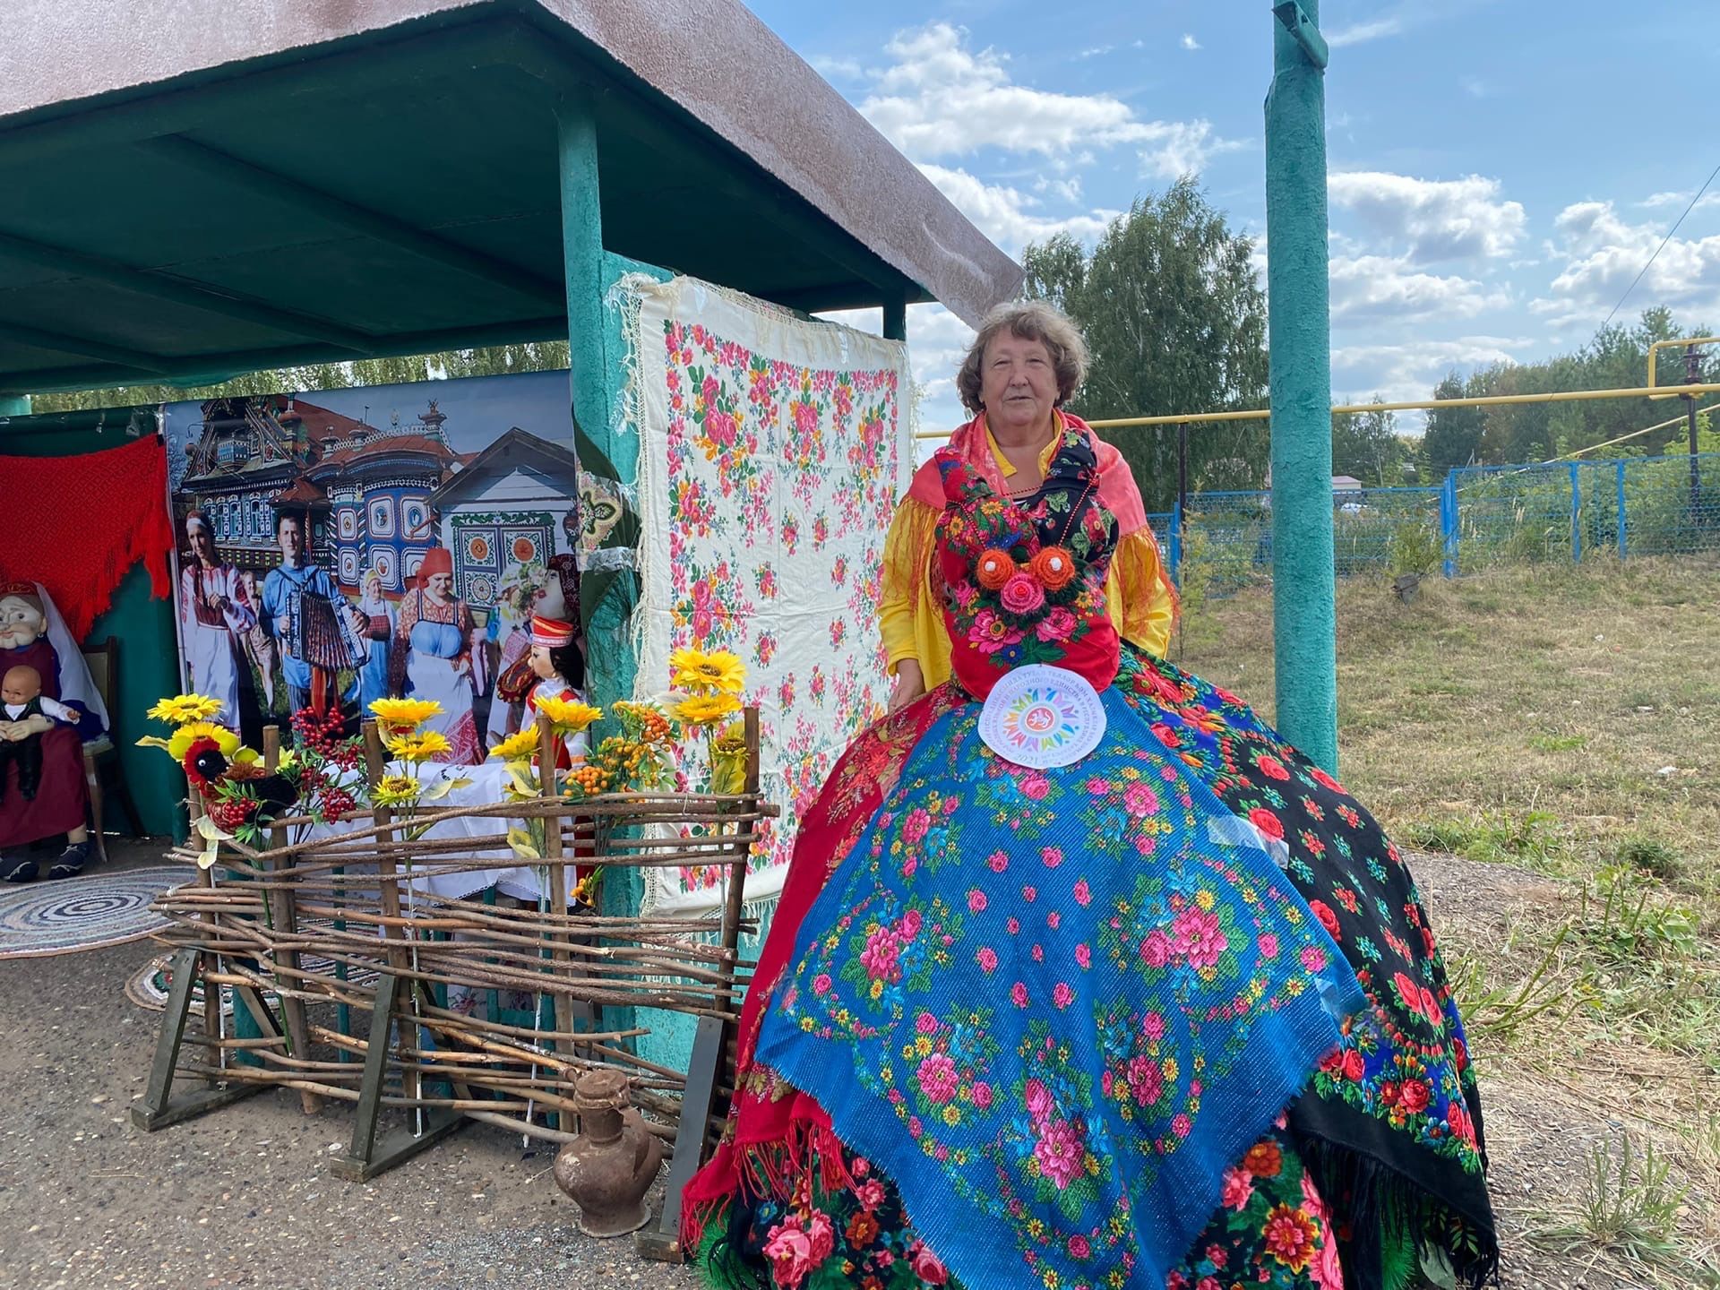
<instances>
[{"instance_id":1,"label":"printed banner showing people in folk costume before ornate wooden houses","mask_svg":"<svg viewBox=\"0 0 1720 1290\"><path fill-rule=\"evenodd\" d=\"M165 409L184 681L258 746L308 702L442 703L451 760L519 722L497 678L578 605L568 373Z\"/></svg>"}]
</instances>

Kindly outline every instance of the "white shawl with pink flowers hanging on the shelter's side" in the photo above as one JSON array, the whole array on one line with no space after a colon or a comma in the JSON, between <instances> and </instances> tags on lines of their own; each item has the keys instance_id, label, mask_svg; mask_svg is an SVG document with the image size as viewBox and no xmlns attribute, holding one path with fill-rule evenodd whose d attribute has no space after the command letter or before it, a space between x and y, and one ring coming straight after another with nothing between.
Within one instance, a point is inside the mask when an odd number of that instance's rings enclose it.
<instances>
[{"instance_id":1,"label":"white shawl with pink flowers hanging on the shelter's side","mask_svg":"<svg viewBox=\"0 0 1720 1290\"><path fill-rule=\"evenodd\" d=\"M669 648L733 650L746 662L765 791L783 810L755 848L757 872L788 863L800 810L848 740L884 712L884 659L865 624L908 464L898 373L796 366L673 318L662 359ZM800 612L805 600L777 617L786 597L808 592L822 623ZM681 889L712 889L722 872L683 867Z\"/></svg>"}]
</instances>

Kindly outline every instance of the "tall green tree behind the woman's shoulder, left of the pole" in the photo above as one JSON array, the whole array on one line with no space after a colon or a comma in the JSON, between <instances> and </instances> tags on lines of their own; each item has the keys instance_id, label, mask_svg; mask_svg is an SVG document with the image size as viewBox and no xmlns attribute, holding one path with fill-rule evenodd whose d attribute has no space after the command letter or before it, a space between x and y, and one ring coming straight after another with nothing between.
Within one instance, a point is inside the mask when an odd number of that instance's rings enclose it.
<instances>
[{"instance_id":1,"label":"tall green tree behind the woman's shoulder, left of the pole","mask_svg":"<svg viewBox=\"0 0 1720 1290\"><path fill-rule=\"evenodd\" d=\"M1092 365L1072 411L1089 420L1266 404L1266 298L1254 243L1232 232L1192 179L1137 198L1085 251L1060 234L1029 246L1023 294L1068 313ZM1106 435L1128 459L1149 511L1176 497L1176 427ZM1264 421L1195 423L1192 488L1261 487Z\"/></svg>"}]
</instances>

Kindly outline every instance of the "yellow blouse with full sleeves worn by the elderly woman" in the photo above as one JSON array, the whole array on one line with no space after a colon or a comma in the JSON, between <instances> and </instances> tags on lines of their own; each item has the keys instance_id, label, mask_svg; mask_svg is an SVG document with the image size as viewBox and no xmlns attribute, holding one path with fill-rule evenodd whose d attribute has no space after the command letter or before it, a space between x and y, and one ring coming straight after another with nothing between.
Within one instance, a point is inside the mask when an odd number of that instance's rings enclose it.
<instances>
[{"instance_id":1,"label":"yellow blouse with full sleeves worn by the elderly woman","mask_svg":"<svg viewBox=\"0 0 1720 1290\"><path fill-rule=\"evenodd\" d=\"M1015 475L1015 466L989 430L987 439L1003 476ZM1053 435L1039 456L1041 473L1049 468L1056 444ZM884 538L884 595L879 604L879 631L889 654L889 673L894 676L896 664L903 659L915 659L927 690L949 679L949 633L931 580L937 516L939 511L913 497L905 497L896 507ZM1151 530L1140 528L1116 544L1104 580L1104 600L1123 640L1149 654L1164 655L1176 619L1176 600Z\"/></svg>"}]
</instances>

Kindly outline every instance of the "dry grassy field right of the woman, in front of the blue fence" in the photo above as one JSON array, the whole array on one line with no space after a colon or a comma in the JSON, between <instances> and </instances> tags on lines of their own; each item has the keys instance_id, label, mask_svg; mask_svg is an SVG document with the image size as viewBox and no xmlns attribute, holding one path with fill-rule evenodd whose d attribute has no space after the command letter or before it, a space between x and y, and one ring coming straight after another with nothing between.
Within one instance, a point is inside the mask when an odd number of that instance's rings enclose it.
<instances>
[{"instance_id":1,"label":"dry grassy field right of the woman, in front of the blue fence","mask_svg":"<svg viewBox=\"0 0 1720 1290\"><path fill-rule=\"evenodd\" d=\"M1271 712L1271 635L1204 605L1183 666ZM1507 1285L1720 1287L1720 566L1345 583L1338 697L1345 784L1436 853Z\"/></svg>"}]
</instances>

